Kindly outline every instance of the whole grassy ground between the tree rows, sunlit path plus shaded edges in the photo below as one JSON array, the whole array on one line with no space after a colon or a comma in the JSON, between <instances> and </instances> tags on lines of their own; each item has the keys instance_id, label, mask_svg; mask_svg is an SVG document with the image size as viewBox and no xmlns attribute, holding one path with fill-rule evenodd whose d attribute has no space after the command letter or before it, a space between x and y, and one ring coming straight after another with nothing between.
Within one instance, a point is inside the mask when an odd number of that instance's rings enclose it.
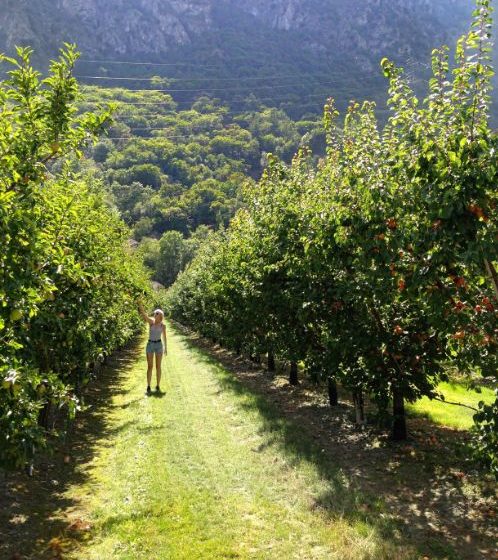
<instances>
[{"instance_id":1,"label":"whole grassy ground between the tree rows, sunlit path plus shaded edges","mask_svg":"<svg viewBox=\"0 0 498 560\"><path fill-rule=\"evenodd\" d=\"M91 383L68 442L0 480L6 560L488 560L498 492L463 431L359 431L350 405L174 329L163 395L143 341ZM443 405L446 406L446 405Z\"/></svg>"}]
</instances>

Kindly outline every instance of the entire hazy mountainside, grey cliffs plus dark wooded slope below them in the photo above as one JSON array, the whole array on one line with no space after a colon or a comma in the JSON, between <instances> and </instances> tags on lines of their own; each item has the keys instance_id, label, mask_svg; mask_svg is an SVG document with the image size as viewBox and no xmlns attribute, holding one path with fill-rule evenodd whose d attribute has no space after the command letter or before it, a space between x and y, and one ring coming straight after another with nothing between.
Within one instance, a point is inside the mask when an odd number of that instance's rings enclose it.
<instances>
[{"instance_id":1,"label":"entire hazy mountainside, grey cliffs plus dark wooded slope below them","mask_svg":"<svg viewBox=\"0 0 498 560\"><path fill-rule=\"evenodd\" d=\"M179 63L154 73L192 78L190 87L196 79L306 72L329 75L339 99L357 91L376 98L379 86L368 81L383 56L423 75L432 48L454 44L473 7L473 0L0 0L0 51L29 44L43 63L69 41L86 59ZM135 67L133 75L150 70ZM319 95L325 84L289 91Z\"/></svg>"}]
</instances>

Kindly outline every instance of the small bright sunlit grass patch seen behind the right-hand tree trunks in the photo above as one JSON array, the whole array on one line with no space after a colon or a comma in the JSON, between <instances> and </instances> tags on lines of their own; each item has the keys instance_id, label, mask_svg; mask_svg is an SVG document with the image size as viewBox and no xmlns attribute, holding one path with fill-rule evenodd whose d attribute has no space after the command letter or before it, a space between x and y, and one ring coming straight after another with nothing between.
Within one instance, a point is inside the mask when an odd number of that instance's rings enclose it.
<instances>
[{"instance_id":1,"label":"small bright sunlit grass patch seen behind the right-hand tree trunks","mask_svg":"<svg viewBox=\"0 0 498 560\"><path fill-rule=\"evenodd\" d=\"M478 393L475 390L469 390L462 383L453 382L441 383L438 390L444 395L446 400L465 404L474 408L477 408L480 401L486 403L494 401L493 391L485 387ZM474 424L473 415L475 412L473 410L430 400L427 397L410 405L408 410L413 414L425 416L437 424L457 428L459 430L468 430Z\"/></svg>"}]
</instances>

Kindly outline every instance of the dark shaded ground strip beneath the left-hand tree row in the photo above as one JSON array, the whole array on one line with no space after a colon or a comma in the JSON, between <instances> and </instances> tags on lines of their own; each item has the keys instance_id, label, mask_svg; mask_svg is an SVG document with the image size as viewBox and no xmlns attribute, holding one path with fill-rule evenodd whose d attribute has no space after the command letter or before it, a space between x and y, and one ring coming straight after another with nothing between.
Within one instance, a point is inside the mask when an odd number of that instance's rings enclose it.
<instances>
[{"instance_id":1,"label":"dark shaded ground strip beneath the left-hand tree row","mask_svg":"<svg viewBox=\"0 0 498 560\"><path fill-rule=\"evenodd\" d=\"M114 397L125 393L123 380L141 352L142 345L136 340L109 359L99 378L85 391L87 409L77 416L67 443L38 459L33 477L9 473L0 479L0 558L62 558L57 555L61 546L67 552L71 541L75 544L75 539L85 538L84 532L75 534L68 520L57 513L77 506L64 494L70 486L87 481L80 466L92 460L97 444L111 442L114 433L126 428L111 427L108 414Z\"/></svg>"}]
</instances>

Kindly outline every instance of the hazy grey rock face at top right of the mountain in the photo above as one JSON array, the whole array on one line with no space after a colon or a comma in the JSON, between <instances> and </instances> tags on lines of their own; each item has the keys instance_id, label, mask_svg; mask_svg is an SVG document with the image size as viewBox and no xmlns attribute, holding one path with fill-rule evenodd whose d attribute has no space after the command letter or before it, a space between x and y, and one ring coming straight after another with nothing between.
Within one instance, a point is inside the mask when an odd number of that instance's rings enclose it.
<instances>
[{"instance_id":1,"label":"hazy grey rock face at top right of the mountain","mask_svg":"<svg viewBox=\"0 0 498 560\"><path fill-rule=\"evenodd\" d=\"M429 45L452 40L470 21L469 0L232 0L270 28L301 31L317 52L354 52L369 63L390 56L418 56Z\"/></svg>"}]
</instances>

